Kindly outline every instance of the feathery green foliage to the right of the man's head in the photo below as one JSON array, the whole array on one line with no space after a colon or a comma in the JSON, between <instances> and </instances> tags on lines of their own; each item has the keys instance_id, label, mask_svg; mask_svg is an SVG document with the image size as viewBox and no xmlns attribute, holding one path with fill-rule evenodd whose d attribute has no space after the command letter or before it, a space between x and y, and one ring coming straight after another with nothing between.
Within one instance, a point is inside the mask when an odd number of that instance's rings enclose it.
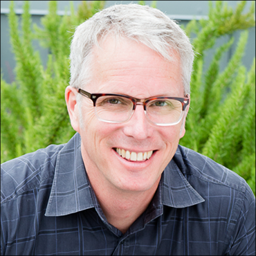
<instances>
[{"instance_id":1,"label":"feathery green foliage to the right of the man's head","mask_svg":"<svg viewBox=\"0 0 256 256\"><path fill-rule=\"evenodd\" d=\"M180 143L237 172L255 193L255 60L249 72L241 63L248 39L246 29L255 26L255 3L243 14L245 4L241 1L232 10L228 3L210 1L208 20L190 21L185 28L188 35L196 35L192 44L197 56L186 135ZM236 30L244 31L226 68L220 71L219 64L233 37L217 48L203 73L205 51L219 37Z\"/></svg>"}]
</instances>

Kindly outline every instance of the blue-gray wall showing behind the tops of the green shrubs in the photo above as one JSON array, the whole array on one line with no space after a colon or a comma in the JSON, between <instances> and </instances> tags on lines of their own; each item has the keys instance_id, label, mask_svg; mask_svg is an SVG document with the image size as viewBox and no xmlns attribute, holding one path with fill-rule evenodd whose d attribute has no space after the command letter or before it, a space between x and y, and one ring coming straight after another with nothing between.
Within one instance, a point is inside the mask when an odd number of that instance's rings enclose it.
<instances>
[{"instance_id":1,"label":"blue-gray wall showing behind the tops of the green shrubs","mask_svg":"<svg viewBox=\"0 0 256 256\"><path fill-rule=\"evenodd\" d=\"M15 11L17 15L20 15L22 12L22 6L24 1L15 1ZM33 23L37 25L40 24L40 19L46 15L48 10L49 1L30 1L30 13L32 15ZM119 3L130 3L131 1L107 1L106 7L113 4ZM134 3L138 1L133 1ZM235 8L239 1L228 1L228 6ZM146 1L150 5L151 1ZM246 10L250 7L251 1L246 3ZM80 1L73 1L75 10L80 4ZM9 35L9 26L8 26L8 7L10 6L10 1L1 1L1 73L3 74L3 79L6 82L12 82L15 80L15 58L12 54L10 47L10 35ZM166 15L172 19L179 21L179 24L187 24L193 18L200 19L201 17L207 17L208 15L208 1L158 1L157 8L165 12ZM58 1L58 13L60 15L64 14L65 10L69 9L69 1ZM246 11L245 10L245 11ZM240 32L235 33L236 42L239 38ZM217 41L217 45L222 44L228 40L228 36L221 38ZM48 50L39 46L38 42L34 42L34 47L39 51L43 63L46 64ZM235 51L234 44L230 51L223 56L221 61L221 68L224 68L232 55L232 52ZM205 67L207 68L210 63L210 59L214 49L210 50L206 54ZM248 44L246 48L246 54L243 58L243 63L246 68L250 68L250 65L253 62L253 57L255 57L255 28L250 29L250 35L248 39Z\"/></svg>"}]
</instances>

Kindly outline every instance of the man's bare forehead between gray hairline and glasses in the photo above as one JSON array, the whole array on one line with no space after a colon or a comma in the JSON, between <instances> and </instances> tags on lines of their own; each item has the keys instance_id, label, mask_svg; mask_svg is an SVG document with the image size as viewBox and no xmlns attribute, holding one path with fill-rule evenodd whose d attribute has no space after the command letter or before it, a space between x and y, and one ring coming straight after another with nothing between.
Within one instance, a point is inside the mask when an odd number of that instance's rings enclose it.
<instances>
[{"instance_id":1,"label":"man's bare forehead between gray hairline and glasses","mask_svg":"<svg viewBox=\"0 0 256 256\"><path fill-rule=\"evenodd\" d=\"M93 48L93 93L123 93L135 98L156 95L183 96L179 55L172 62L144 44L107 37Z\"/></svg>"}]
</instances>

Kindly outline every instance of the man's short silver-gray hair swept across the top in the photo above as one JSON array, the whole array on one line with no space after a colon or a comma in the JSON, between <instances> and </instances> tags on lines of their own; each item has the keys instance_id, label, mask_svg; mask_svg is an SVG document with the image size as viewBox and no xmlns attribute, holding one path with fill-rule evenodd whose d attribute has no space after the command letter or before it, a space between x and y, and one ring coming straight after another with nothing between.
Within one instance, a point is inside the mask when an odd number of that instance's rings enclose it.
<instances>
[{"instance_id":1,"label":"man's short silver-gray hair swept across the top","mask_svg":"<svg viewBox=\"0 0 256 256\"><path fill-rule=\"evenodd\" d=\"M97 12L77 26L71 42L71 81L74 88L91 80L92 48L113 35L126 37L148 46L165 60L172 61L176 52L181 60L183 91L190 93L194 51L190 39L175 21L161 10L136 3L114 5ZM170 51L172 50L172 51Z\"/></svg>"}]
</instances>

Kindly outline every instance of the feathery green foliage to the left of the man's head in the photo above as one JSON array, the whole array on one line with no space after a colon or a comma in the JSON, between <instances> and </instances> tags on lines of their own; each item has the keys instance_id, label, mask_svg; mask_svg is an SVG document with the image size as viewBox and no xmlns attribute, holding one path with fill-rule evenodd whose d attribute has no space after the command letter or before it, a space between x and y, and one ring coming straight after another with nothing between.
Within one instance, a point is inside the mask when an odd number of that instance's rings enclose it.
<instances>
[{"instance_id":1,"label":"feathery green foliage to the left of the man's head","mask_svg":"<svg viewBox=\"0 0 256 256\"><path fill-rule=\"evenodd\" d=\"M69 47L75 27L104 8L105 1L82 1L77 13L57 15L57 1L49 1L42 28L31 30L29 1L24 3L21 33L10 4L9 26L17 62L15 84L1 79L1 163L52 143L65 143L73 131L64 91L69 82ZM49 49L46 68L32 46L33 39Z\"/></svg>"}]
</instances>

